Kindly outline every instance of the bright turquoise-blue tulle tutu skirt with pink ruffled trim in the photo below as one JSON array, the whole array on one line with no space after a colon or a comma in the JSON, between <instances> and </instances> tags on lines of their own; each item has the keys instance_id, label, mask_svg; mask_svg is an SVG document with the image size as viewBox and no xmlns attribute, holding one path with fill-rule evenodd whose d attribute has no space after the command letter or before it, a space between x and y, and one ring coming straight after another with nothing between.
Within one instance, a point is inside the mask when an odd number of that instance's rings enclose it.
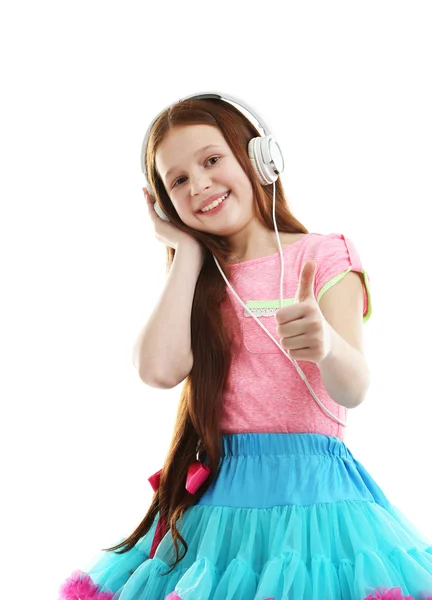
<instances>
[{"instance_id":1,"label":"bright turquoise-blue tulle tutu skirt with pink ruffled trim","mask_svg":"<svg viewBox=\"0 0 432 600\"><path fill-rule=\"evenodd\" d=\"M188 552L167 576L170 532L149 558L157 521L130 551L75 571L60 598L432 600L430 540L339 438L223 436L219 475L178 521Z\"/></svg>"}]
</instances>

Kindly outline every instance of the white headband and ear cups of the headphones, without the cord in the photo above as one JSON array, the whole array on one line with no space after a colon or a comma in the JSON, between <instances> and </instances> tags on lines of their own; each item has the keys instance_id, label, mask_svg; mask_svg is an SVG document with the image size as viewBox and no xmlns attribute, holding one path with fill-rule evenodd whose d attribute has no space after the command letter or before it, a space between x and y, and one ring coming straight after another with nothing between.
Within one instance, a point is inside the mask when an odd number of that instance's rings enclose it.
<instances>
[{"instance_id":1,"label":"white headband and ear cups of the headphones, without the cord","mask_svg":"<svg viewBox=\"0 0 432 600\"><path fill-rule=\"evenodd\" d=\"M270 185L270 184L274 183L277 180L277 178L279 177L279 175L283 172L285 163L284 163L284 159L282 156L282 151L280 149L280 146L279 146L278 142L276 141L275 137L273 136L273 134L270 133L270 129L265 124L264 119L262 119L258 115L257 111L253 110L250 106L248 106L246 104L246 102L240 101L239 99L236 99L233 96L229 96L228 94L222 94L219 92L203 92L203 93L199 93L199 94L191 94L190 96L186 96L185 98L178 100L178 102L184 102L185 100L192 100L192 99L203 100L206 98L228 101L234 105L237 105L239 108L242 108L243 110L248 112L253 118L255 118L255 120L258 122L258 128L263 130L264 135L261 135L260 137L252 138L249 141L248 155L249 155L250 161L252 163L252 167L253 167L255 173L257 174L258 180L261 183L261 185ZM153 119L153 121L150 123L150 125L146 131L146 134L144 136L144 141L142 143L141 170L144 173L144 176L146 179L146 187L153 197L155 197L155 195L153 193L153 190L151 189L150 184L148 183L147 169L146 169L146 164L145 164L147 143L148 143L148 139L150 136L150 131L151 131L155 121L159 118L159 116L163 112L165 112L168 108L171 108L175 104L177 104L177 102L165 107ZM248 117L248 115L245 115L245 116L252 123L250 117ZM164 213L164 211L162 210L162 207L159 205L158 202L155 202L154 208L155 208L157 215L161 219L163 219L164 221L169 221L168 216Z\"/></svg>"}]
</instances>

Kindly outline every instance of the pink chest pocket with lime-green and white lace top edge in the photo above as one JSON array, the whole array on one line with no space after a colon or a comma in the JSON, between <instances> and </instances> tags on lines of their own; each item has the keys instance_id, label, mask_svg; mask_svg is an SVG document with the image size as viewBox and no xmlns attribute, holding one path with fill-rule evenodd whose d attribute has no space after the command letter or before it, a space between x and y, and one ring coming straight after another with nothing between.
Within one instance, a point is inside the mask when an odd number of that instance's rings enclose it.
<instances>
[{"instance_id":1,"label":"pink chest pocket with lime-green and white lace top edge","mask_svg":"<svg viewBox=\"0 0 432 600\"><path fill-rule=\"evenodd\" d=\"M283 300L283 306L294 303L295 298L284 298ZM280 308L280 300L249 300L246 302L246 306L279 342L279 336L276 333L278 325L274 316ZM243 309L242 335L243 344L249 352L254 354L280 354L282 352L246 309Z\"/></svg>"}]
</instances>

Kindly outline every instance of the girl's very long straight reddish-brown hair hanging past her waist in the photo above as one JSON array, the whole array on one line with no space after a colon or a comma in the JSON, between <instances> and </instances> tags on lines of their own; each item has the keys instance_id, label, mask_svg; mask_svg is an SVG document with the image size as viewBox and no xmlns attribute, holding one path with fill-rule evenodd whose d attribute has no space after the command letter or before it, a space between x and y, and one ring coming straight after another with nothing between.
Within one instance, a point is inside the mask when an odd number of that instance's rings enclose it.
<instances>
[{"instance_id":1,"label":"girl's very long straight reddish-brown hair hanging past her waist","mask_svg":"<svg viewBox=\"0 0 432 600\"><path fill-rule=\"evenodd\" d=\"M192 229L180 220L155 165L156 150L167 133L176 125L196 124L212 125L221 131L251 181L257 218L269 230L274 229L273 186L260 184L247 153L249 140L260 136L252 123L230 103L215 99L185 100L164 111L152 127L147 144L146 168L156 199L170 220L206 249L191 314L191 343L195 360L183 385L171 446L162 468L159 489L154 494L150 508L128 538L104 550L108 552L120 549L117 553L122 554L133 548L150 530L159 513L171 532L175 548L175 562L166 575L171 573L188 550L186 540L176 527L178 519L201 498L218 473L221 458L219 422L222 390L231 361L230 340L220 310L226 294L226 284L212 256L216 256L229 280L229 245L226 239ZM280 179L276 181L275 211L278 231L308 233L290 212ZM167 247L167 273L174 256L175 250ZM195 460L198 440L202 441L211 474L198 492L191 495L185 489L186 474L189 465ZM184 546L181 557L178 540Z\"/></svg>"}]
</instances>

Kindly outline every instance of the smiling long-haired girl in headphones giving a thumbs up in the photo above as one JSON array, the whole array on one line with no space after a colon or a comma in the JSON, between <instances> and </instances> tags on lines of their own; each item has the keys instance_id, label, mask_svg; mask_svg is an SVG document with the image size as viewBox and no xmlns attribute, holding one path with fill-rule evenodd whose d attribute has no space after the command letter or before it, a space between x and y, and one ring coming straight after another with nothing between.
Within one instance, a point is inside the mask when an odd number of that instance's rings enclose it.
<instances>
[{"instance_id":1,"label":"smiling long-haired girl in headphones giving a thumbs up","mask_svg":"<svg viewBox=\"0 0 432 600\"><path fill-rule=\"evenodd\" d=\"M343 441L369 385L367 274L293 216L276 141L226 98L175 103L144 140L169 276L136 367L185 383L144 519L60 598L432 598L430 541Z\"/></svg>"}]
</instances>

